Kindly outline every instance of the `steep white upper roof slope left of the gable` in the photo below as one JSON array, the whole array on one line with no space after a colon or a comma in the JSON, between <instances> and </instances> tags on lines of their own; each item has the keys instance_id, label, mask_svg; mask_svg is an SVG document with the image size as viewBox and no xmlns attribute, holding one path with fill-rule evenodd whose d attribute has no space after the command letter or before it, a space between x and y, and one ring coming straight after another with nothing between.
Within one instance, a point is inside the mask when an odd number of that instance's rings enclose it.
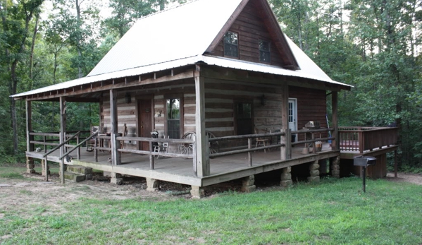
<instances>
[{"instance_id":1,"label":"steep white upper roof slope left of the gable","mask_svg":"<svg viewBox=\"0 0 422 245\"><path fill-rule=\"evenodd\" d=\"M141 18L88 76L204 54L241 1L193 1Z\"/></svg>"}]
</instances>

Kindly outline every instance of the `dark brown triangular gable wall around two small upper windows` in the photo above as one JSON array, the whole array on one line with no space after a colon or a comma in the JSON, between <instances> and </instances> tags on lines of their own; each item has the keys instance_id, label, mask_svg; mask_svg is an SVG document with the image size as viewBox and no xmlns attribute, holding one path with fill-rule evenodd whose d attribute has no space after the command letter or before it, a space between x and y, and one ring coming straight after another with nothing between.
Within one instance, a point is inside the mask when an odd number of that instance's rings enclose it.
<instances>
[{"instance_id":1,"label":"dark brown triangular gable wall around two small upper windows","mask_svg":"<svg viewBox=\"0 0 422 245\"><path fill-rule=\"evenodd\" d=\"M271 41L271 35L256 8L261 7L254 4L254 1L249 1L229 31L239 34L239 59L259 63L259 39ZM223 46L221 40L212 54L224 56ZM271 65L283 66L283 60L274 42L271 42Z\"/></svg>"}]
</instances>

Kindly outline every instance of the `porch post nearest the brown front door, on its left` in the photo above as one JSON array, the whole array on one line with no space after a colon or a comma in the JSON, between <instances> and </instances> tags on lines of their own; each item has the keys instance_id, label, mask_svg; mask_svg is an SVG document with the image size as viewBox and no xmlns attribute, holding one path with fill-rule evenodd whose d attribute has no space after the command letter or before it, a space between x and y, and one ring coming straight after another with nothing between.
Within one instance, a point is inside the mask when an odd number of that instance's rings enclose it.
<instances>
[{"instance_id":1,"label":"porch post nearest the brown front door, on its left","mask_svg":"<svg viewBox=\"0 0 422 245\"><path fill-rule=\"evenodd\" d=\"M120 165L121 155L118 149L120 142L116 140L118 136L118 118L117 118L117 91L110 90L110 124L111 124L111 162L112 165Z\"/></svg>"}]
</instances>

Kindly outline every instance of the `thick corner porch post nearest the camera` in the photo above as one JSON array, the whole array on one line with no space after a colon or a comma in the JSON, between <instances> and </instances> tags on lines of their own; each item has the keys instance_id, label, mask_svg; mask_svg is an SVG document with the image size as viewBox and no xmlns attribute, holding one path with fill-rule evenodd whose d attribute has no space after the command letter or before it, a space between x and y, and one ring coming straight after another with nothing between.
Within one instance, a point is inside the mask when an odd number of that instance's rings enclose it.
<instances>
[{"instance_id":1,"label":"thick corner porch post nearest the camera","mask_svg":"<svg viewBox=\"0 0 422 245\"><path fill-rule=\"evenodd\" d=\"M195 70L195 95L196 115L195 124L197 128L197 174L204 177L210 174L209 158L206 157L208 144L205 138L205 79L201 74L201 66L197 65Z\"/></svg>"}]
</instances>

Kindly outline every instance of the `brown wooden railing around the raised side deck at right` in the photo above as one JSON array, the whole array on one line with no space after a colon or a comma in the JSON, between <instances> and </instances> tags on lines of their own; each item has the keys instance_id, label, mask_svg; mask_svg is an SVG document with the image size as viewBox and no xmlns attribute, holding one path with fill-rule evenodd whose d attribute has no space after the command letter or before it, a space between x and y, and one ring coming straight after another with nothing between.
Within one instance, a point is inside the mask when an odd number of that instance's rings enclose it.
<instances>
[{"instance_id":1,"label":"brown wooden railing around the raised side deck at right","mask_svg":"<svg viewBox=\"0 0 422 245\"><path fill-rule=\"evenodd\" d=\"M340 150L364 153L396 145L398 133L392 127L339 127Z\"/></svg>"}]
</instances>

